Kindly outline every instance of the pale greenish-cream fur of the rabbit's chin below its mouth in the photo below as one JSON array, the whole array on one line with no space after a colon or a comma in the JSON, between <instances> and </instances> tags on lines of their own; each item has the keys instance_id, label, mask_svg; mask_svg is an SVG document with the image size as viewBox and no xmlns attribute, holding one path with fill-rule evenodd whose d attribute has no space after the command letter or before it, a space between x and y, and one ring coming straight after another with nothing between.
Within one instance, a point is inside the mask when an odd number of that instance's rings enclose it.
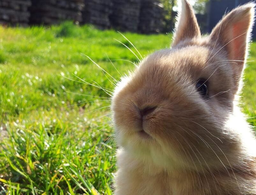
<instances>
[{"instance_id":1,"label":"pale greenish-cream fur of the rabbit's chin below its mouth","mask_svg":"<svg viewBox=\"0 0 256 195\"><path fill-rule=\"evenodd\" d=\"M158 170L177 170L187 167L171 146L164 146L143 132L135 134L116 133L121 151L130 158L143 162L145 170L157 167Z\"/></svg>"}]
</instances>

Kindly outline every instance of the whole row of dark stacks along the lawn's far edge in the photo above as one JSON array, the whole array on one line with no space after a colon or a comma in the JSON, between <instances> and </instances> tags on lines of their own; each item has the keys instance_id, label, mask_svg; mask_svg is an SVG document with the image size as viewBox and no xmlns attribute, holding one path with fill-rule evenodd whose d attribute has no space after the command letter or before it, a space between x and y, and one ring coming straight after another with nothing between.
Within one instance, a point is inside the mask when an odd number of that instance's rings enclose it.
<instances>
[{"instance_id":1,"label":"whole row of dark stacks along the lawn's far edge","mask_svg":"<svg viewBox=\"0 0 256 195\"><path fill-rule=\"evenodd\" d=\"M160 0L0 0L0 23L52 25L64 20L101 29L156 33L162 30Z\"/></svg>"}]
</instances>

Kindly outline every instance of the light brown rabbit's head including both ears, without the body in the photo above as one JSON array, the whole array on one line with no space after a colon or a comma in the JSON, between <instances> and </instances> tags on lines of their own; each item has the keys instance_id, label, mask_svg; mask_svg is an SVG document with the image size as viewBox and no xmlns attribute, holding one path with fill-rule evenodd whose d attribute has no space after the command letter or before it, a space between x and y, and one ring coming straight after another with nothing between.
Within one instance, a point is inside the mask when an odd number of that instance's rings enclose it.
<instances>
[{"instance_id":1,"label":"light brown rabbit's head including both ears, without the body","mask_svg":"<svg viewBox=\"0 0 256 195\"><path fill-rule=\"evenodd\" d=\"M253 3L240 6L201 37L192 7L183 0L172 47L146 57L115 89L118 145L166 169L236 162L241 137L228 124L253 14Z\"/></svg>"}]
</instances>

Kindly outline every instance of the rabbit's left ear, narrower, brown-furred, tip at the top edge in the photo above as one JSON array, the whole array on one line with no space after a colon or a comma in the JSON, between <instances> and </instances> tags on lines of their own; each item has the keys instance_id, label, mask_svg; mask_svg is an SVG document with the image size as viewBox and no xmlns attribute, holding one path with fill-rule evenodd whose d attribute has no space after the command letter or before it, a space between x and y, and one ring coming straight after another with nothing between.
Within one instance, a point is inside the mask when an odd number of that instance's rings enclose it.
<instances>
[{"instance_id":1,"label":"rabbit's left ear, narrower, brown-furred, tip at the top edge","mask_svg":"<svg viewBox=\"0 0 256 195\"><path fill-rule=\"evenodd\" d=\"M179 12L175 24L172 46L177 45L180 41L193 39L194 37L201 37L200 28L192 6L187 0L182 0L181 12Z\"/></svg>"}]
</instances>

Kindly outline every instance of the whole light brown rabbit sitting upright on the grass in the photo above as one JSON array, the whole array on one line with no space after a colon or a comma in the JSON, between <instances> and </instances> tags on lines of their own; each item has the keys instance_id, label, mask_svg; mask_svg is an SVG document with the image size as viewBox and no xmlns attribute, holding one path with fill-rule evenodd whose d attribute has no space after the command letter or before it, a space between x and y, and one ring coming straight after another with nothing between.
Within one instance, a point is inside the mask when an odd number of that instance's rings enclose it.
<instances>
[{"instance_id":1,"label":"whole light brown rabbit sitting upright on the grass","mask_svg":"<svg viewBox=\"0 0 256 195\"><path fill-rule=\"evenodd\" d=\"M238 107L254 7L201 36L182 0L171 48L121 78L111 100L114 194L256 194L255 135Z\"/></svg>"}]
</instances>

